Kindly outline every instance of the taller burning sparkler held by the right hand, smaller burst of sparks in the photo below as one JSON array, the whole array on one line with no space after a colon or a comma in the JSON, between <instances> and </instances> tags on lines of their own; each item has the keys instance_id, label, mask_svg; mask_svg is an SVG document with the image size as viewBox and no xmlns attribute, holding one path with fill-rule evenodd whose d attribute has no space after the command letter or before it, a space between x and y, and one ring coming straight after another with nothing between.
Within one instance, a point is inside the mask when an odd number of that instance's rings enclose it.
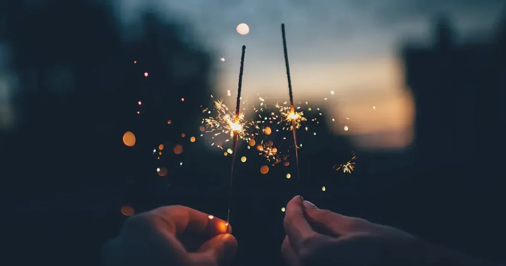
<instances>
[{"instance_id":1,"label":"taller burning sparkler held by the right hand, smaller burst of sparks","mask_svg":"<svg viewBox=\"0 0 506 266\"><path fill-rule=\"evenodd\" d=\"M286 48L286 34L284 29L284 23L281 24L281 34L283 36L283 52L285 57L285 65L286 65L286 78L288 79L288 93L290 96L290 111L282 112L284 116L284 121L287 123L291 122L291 131L293 132L293 145L295 146L295 160L297 165L297 180L300 182L301 179L301 171L299 169L299 152L297 149L297 135L296 129L300 127L300 122L302 121L302 113L296 112L295 107L293 105L293 91L291 89L291 77L290 77L290 64L288 62L288 50Z\"/></svg>"}]
</instances>

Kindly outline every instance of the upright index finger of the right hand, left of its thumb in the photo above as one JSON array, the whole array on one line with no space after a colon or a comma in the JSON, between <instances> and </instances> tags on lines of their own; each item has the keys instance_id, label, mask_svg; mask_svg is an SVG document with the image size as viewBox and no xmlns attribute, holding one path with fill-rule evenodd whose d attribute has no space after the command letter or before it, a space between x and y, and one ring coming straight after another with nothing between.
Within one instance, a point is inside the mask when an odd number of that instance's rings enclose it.
<instances>
[{"instance_id":1,"label":"upright index finger of the right hand, left of its thumb","mask_svg":"<svg viewBox=\"0 0 506 266\"><path fill-rule=\"evenodd\" d=\"M316 235L308 221L304 217L302 197L296 196L286 205L283 226L286 236L290 239L294 250L299 251L301 244Z\"/></svg>"}]
</instances>

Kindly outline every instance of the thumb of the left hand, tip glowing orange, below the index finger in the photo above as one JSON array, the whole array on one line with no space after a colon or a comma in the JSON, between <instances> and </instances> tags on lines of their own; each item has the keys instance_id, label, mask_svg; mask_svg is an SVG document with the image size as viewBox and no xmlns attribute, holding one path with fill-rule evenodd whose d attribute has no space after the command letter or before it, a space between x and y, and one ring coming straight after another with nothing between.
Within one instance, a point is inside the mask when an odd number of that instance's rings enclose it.
<instances>
[{"instance_id":1,"label":"thumb of the left hand, tip glowing orange, below the index finger","mask_svg":"<svg viewBox=\"0 0 506 266\"><path fill-rule=\"evenodd\" d=\"M191 260L198 265L214 266L230 262L237 251L237 240L230 234L222 234L206 241ZM197 263L195 263L197 264Z\"/></svg>"}]
</instances>

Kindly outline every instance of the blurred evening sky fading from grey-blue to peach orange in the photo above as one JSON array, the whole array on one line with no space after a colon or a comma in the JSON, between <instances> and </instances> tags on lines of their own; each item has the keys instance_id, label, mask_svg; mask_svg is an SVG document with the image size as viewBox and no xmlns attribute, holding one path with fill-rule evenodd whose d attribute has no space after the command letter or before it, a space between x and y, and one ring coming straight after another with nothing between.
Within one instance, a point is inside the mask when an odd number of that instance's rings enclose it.
<instances>
[{"instance_id":1,"label":"blurred evening sky fading from grey-blue to peach orange","mask_svg":"<svg viewBox=\"0 0 506 266\"><path fill-rule=\"evenodd\" d=\"M352 135L359 146L396 148L411 142L414 115L398 58L404 41L430 41L433 18L440 12L451 17L462 39L486 37L504 2L116 0L116 11L124 25L152 7L190 25L215 53L216 94L230 104L237 92L242 45L247 47L243 98L251 103L259 96L272 103L288 100L280 29L285 23L294 100L324 107L332 129ZM239 23L249 25L247 35L236 32Z\"/></svg>"}]
</instances>

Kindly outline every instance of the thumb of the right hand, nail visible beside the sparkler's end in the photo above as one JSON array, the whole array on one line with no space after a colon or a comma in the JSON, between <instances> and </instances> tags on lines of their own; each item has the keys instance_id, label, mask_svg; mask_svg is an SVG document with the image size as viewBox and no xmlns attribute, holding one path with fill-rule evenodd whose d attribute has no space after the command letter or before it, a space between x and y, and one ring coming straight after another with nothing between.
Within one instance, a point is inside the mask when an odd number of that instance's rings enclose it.
<instances>
[{"instance_id":1,"label":"thumb of the right hand, nail visible beside the sparkler's end","mask_svg":"<svg viewBox=\"0 0 506 266\"><path fill-rule=\"evenodd\" d=\"M363 229L366 220L345 216L329 210L318 209L308 201L303 202L306 218L313 228L324 235L334 237L355 233Z\"/></svg>"}]
</instances>

